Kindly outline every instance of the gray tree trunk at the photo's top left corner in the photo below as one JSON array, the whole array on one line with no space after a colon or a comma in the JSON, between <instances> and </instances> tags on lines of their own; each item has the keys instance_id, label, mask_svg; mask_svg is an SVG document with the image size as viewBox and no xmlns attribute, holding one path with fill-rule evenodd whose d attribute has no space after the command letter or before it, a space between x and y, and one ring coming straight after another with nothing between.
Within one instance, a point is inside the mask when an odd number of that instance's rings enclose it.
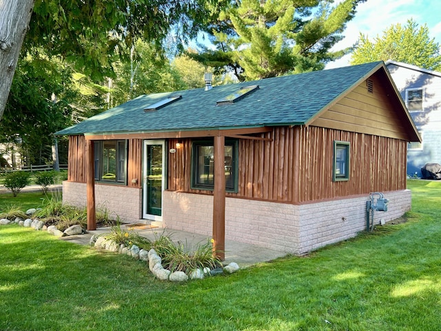
<instances>
[{"instance_id":1,"label":"gray tree trunk at the photo's top left corner","mask_svg":"<svg viewBox=\"0 0 441 331\"><path fill-rule=\"evenodd\" d=\"M0 120L8 100L34 0L0 1Z\"/></svg>"}]
</instances>

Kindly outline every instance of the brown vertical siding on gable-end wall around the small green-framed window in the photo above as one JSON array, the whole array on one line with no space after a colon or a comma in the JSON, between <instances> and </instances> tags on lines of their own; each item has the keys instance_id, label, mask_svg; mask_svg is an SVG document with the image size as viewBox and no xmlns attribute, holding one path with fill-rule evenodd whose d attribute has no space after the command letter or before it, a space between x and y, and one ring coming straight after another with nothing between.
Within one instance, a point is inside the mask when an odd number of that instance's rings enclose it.
<instances>
[{"instance_id":1,"label":"brown vertical siding on gable-end wall around the small green-framed window","mask_svg":"<svg viewBox=\"0 0 441 331\"><path fill-rule=\"evenodd\" d=\"M293 202L406 188L406 141L318 127L300 130L304 131L300 134L300 199ZM351 144L349 181L332 181L336 140ZM316 150L322 152L322 160Z\"/></svg>"}]
</instances>

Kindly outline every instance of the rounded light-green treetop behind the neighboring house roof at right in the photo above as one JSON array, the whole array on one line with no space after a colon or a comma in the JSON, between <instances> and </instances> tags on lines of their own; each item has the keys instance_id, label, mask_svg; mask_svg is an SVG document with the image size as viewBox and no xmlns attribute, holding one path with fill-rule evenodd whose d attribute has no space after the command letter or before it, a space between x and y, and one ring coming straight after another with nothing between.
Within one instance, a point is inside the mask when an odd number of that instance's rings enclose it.
<instances>
[{"instance_id":1,"label":"rounded light-green treetop behind the neighboring house roof at right","mask_svg":"<svg viewBox=\"0 0 441 331\"><path fill-rule=\"evenodd\" d=\"M402 26L393 24L383 31L381 37L373 41L365 34L360 34L358 45L352 53L351 64L372 61L399 61L428 70L441 70L440 46L429 37L429 29L418 26L409 19Z\"/></svg>"}]
</instances>

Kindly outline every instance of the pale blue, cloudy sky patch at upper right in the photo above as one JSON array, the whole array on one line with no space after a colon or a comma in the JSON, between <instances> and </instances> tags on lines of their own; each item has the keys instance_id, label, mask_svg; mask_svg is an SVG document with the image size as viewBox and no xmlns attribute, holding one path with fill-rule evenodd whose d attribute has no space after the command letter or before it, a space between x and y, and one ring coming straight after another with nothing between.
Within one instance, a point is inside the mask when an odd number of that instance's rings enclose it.
<instances>
[{"instance_id":1,"label":"pale blue, cloudy sky patch at upper right","mask_svg":"<svg viewBox=\"0 0 441 331\"><path fill-rule=\"evenodd\" d=\"M356 16L343 32L345 39L336 49L352 46L360 32L372 40L392 24L405 24L411 18L419 26L426 24L430 37L441 46L441 0L367 0L358 5ZM349 66L350 59L351 56L347 55L329 63L326 68Z\"/></svg>"}]
</instances>

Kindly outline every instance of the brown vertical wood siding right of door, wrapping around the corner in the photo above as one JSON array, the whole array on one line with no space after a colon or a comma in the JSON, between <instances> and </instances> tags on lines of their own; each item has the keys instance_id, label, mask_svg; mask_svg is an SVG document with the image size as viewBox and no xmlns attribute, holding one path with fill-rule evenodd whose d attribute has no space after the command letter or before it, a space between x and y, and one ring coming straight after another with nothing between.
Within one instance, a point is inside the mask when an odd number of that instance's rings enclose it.
<instances>
[{"instance_id":1,"label":"brown vertical wood siding right of door, wrapping around the corner","mask_svg":"<svg viewBox=\"0 0 441 331\"><path fill-rule=\"evenodd\" d=\"M303 203L406 188L406 141L314 126L260 137L274 140L239 140L238 192L227 196ZM332 181L335 140L350 143L349 181ZM169 190L211 194L190 189L191 147L185 140L171 154Z\"/></svg>"}]
</instances>

